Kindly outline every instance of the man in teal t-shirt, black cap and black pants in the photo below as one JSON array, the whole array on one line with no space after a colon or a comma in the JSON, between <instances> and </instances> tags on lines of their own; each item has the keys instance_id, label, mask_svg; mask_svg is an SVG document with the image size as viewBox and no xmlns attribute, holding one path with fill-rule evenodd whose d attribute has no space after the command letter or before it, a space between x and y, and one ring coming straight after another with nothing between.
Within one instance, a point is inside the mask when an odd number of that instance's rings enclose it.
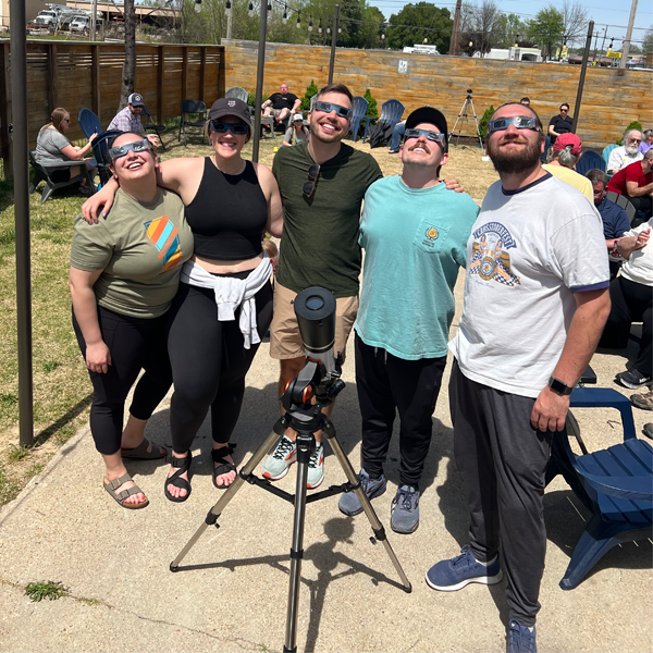
<instances>
[{"instance_id":1,"label":"man in teal t-shirt, black cap and black pants","mask_svg":"<svg viewBox=\"0 0 653 653\"><path fill-rule=\"evenodd\" d=\"M360 482L373 498L385 492L383 464L395 409L399 489L391 526L419 526L419 480L431 442L431 416L446 365L454 285L467 256L479 207L439 181L447 162L447 125L423 107L406 121L401 176L379 180L365 196L359 244L365 249L356 331L356 386L362 417ZM353 492L345 515L362 512Z\"/></svg>"}]
</instances>

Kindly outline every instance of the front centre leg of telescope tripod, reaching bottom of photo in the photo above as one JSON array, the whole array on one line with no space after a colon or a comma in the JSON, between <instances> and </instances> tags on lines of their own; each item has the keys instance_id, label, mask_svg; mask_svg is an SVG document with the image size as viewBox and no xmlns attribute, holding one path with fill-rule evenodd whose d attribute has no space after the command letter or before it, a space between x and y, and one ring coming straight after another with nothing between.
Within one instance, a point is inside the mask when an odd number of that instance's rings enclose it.
<instances>
[{"instance_id":1,"label":"front centre leg of telescope tripod, reaching bottom of photo","mask_svg":"<svg viewBox=\"0 0 653 653\"><path fill-rule=\"evenodd\" d=\"M316 439L313 434L297 434L297 485L295 488L295 518L293 520L293 545L291 547L288 609L283 653L295 653L297 651L297 616L301 582L301 560L304 558L304 523L306 519L306 481L308 479L308 463L315 446Z\"/></svg>"}]
</instances>

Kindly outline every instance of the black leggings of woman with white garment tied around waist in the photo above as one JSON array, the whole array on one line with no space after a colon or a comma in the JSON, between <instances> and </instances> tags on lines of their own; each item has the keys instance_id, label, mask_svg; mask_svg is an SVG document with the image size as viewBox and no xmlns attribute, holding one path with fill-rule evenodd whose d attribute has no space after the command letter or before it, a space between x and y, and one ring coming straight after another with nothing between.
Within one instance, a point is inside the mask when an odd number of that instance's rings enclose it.
<instances>
[{"instance_id":1,"label":"black leggings of woman with white garment tied around waist","mask_svg":"<svg viewBox=\"0 0 653 653\"><path fill-rule=\"evenodd\" d=\"M225 274L246 279L249 272ZM256 321L260 337L272 321L272 286L256 294ZM211 408L211 434L225 443L238 421L245 394L245 375L258 344L243 347L235 320L218 321L215 295L210 288L180 284L170 310L168 350L172 362L174 394L170 405L172 446L177 454L190 448Z\"/></svg>"}]
</instances>

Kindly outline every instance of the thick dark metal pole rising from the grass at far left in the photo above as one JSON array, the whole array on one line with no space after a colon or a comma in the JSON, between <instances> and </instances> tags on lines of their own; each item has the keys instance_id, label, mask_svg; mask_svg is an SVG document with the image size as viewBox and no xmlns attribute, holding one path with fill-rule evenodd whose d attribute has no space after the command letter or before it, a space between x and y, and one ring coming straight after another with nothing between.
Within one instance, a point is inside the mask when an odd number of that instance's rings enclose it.
<instances>
[{"instance_id":1,"label":"thick dark metal pole rising from the grass at far left","mask_svg":"<svg viewBox=\"0 0 653 653\"><path fill-rule=\"evenodd\" d=\"M34 442L32 379L32 274L29 169L27 161L27 51L25 1L11 0L11 95L13 121L14 214L16 229L16 316L19 330L19 431L21 446Z\"/></svg>"}]
</instances>

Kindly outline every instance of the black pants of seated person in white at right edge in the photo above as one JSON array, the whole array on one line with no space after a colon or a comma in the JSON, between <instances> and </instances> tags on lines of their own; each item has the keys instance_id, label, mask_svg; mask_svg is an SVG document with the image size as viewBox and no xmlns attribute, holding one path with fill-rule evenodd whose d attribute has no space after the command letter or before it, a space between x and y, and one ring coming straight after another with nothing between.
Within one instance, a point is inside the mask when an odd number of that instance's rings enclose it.
<instances>
[{"instance_id":1,"label":"black pants of seated person in white at right edge","mask_svg":"<svg viewBox=\"0 0 653 653\"><path fill-rule=\"evenodd\" d=\"M642 340L634 367L653 375L653 286L617 276L609 284L612 307L599 345L615 349L628 346L632 322L642 322Z\"/></svg>"}]
</instances>

